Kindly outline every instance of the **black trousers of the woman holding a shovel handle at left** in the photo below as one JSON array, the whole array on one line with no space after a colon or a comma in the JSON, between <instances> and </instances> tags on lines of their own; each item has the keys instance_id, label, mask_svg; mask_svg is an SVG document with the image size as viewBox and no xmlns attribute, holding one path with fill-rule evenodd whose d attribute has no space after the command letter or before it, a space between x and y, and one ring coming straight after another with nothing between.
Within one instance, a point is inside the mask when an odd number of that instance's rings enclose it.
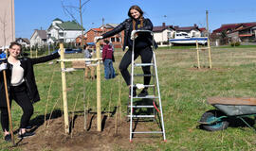
<instances>
[{"instance_id":1,"label":"black trousers of the woman holding a shovel handle at left","mask_svg":"<svg viewBox=\"0 0 256 151\"><path fill-rule=\"evenodd\" d=\"M23 83L20 86L10 87L10 100L14 100L23 110L23 115L20 122L20 128L26 128L29 124L30 117L33 114L34 108L27 96L27 87ZM1 125L3 131L9 131L9 113L7 108L0 108L1 110Z\"/></svg>"}]
</instances>

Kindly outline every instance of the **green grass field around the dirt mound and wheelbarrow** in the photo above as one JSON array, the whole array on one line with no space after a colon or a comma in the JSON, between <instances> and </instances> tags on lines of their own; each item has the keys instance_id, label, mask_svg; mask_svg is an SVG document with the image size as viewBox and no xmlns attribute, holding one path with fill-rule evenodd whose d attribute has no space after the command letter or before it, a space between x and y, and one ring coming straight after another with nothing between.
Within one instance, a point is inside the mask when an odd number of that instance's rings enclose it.
<instances>
[{"instance_id":1,"label":"green grass field around the dirt mound and wheelbarrow","mask_svg":"<svg viewBox=\"0 0 256 151\"><path fill-rule=\"evenodd\" d=\"M205 111L214 109L207 103L208 97L256 97L255 48L212 48L212 69L203 68L201 70L194 67L197 65L195 49L159 49L155 51L155 54L167 143L162 142L162 137L156 137L155 140L158 143L140 143L137 144L137 150L256 150L256 133L247 126L228 127L223 131L209 132L199 129L197 123ZM122 55L121 51L115 52L115 69L117 71ZM69 55L67 58L82 58L82 54ZM208 67L208 52L200 52L200 58L201 66ZM66 66L71 66L71 64L66 63ZM45 114L51 82L46 111L50 113L53 106L56 106L55 109L63 109L60 100L62 90L60 63L39 64L34 69L41 101L34 105L35 113L32 118ZM138 69L137 72L141 72L141 70ZM115 79L105 80L103 66L101 66L102 110L108 110L109 101L111 101L112 109L117 105L119 76ZM52 77L53 80L51 80ZM67 73L66 78L69 111L74 109L77 97L76 110L83 110L83 72ZM122 81L122 113L125 115L129 91L122 78L120 81ZM93 110L96 110L97 100L95 82L86 81L85 83L85 104L89 103ZM55 105L57 100L59 101ZM22 110L16 103L13 103L11 110L14 129L17 129ZM0 137L3 138L3 133L0 134ZM1 140L0 148L5 146L7 144ZM14 150L19 150L19 148Z\"/></svg>"}]
</instances>

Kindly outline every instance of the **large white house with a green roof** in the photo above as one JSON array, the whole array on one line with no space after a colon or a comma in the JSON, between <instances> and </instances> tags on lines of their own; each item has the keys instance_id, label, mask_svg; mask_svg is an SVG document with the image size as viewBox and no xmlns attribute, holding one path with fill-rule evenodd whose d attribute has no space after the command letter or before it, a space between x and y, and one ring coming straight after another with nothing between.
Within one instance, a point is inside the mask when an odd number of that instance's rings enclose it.
<instances>
[{"instance_id":1,"label":"large white house with a green roof","mask_svg":"<svg viewBox=\"0 0 256 151\"><path fill-rule=\"evenodd\" d=\"M75 21L64 22L56 18L46 30L47 43L51 42L75 42L81 35L82 26Z\"/></svg>"}]
</instances>

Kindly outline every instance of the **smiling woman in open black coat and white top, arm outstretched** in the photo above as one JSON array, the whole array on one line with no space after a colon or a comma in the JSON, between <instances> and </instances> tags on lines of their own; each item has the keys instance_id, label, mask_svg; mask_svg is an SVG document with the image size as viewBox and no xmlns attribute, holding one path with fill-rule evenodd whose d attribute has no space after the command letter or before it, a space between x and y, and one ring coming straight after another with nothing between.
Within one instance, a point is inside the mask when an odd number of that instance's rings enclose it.
<instances>
[{"instance_id":1,"label":"smiling woman in open black coat and white top, arm outstretched","mask_svg":"<svg viewBox=\"0 0 256 151\"><path fill-rule=\"evenodd\" d=\"M18 42L11 42L9 45L8 59L4 59L0 62L1 126L5 133L6 141L10 141L11 139L9 134L9 112L7 109L3 70L6 71L7 75L9 103L11 104L11 100L13 99L23 109L18 138L26 138L34 135L32 132L27 132L26 127L33 114L34 109L32 104L40 100L33 65L60 57L59 53L55 53L37 59L20 58L22 53L21 48L22 46Z\"/></svg>"}]
</instances>

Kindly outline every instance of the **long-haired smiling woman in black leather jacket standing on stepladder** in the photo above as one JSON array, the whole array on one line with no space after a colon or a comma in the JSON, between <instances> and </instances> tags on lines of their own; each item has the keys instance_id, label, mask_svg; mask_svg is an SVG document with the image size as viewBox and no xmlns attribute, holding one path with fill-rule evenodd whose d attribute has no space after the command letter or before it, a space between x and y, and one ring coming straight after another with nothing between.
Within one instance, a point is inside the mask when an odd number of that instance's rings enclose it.
<instances>
[{"instance_id":1,"label":"long-haired smiling woman in black leather jacket standing on stepladder","mask_svg":"<svg viewBox=\"0 0 256 151\"><path fill-rule=\"evenodd\" d=\"M126 46L129 47L128 51L124 54L119 64L119 70L123 76L127 86L131 91L131 76L127 68L132 62L132 50L133 40L135 40L135 59L140 56L142 63L151 63L153 52L152 52L152 36L149 33L138 33L135 34L135 30L153 30L153 25L150 19L143 17L143 11L138 6L132 6L128 11L129 18L119 24L113 30L106 32L105 34L96 37L95 41L105 39L114 36L124 30L124 42L122 49ZM155 47L157 45L155 44ZM142 67L144 75L151 75L150 66ZM144 76L144 85L149 85L151 76ZM133 88L133 95L136 96L136 87ZM129 93L130 94L130 93ZM147 88L144 88L138 96L148 95Z\"/></svg>"}]
</instances>

